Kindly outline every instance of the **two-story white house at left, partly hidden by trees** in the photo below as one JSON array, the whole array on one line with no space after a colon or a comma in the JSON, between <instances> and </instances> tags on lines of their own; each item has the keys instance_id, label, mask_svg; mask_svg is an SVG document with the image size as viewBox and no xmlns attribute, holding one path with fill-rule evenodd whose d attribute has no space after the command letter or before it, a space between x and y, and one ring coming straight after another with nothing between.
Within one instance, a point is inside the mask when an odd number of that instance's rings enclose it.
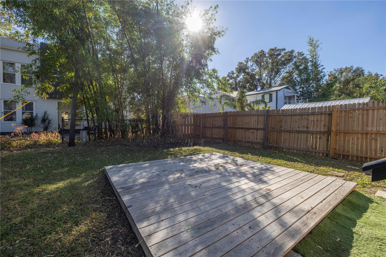
<instances>
[{"instance_id":1,"label":"two-story white house at left, partly hidden by trees","mask_svg":"<svg viewBox=\"0 0 386 257\"><path fill-rule=\"evenodd\" d=\"M0 37L0 99L1 99L1 117L8 112L15 110L19 107L20 103L8 104L7 102L12 98L12 90L19 88L20 85L26 80L22 74L19 73L23 64L29 64L37 56L28 57L28 53L22 51L23 44L16 42L14 39L8 39ZM39 47L38 45L36 47ZM52 125L50 130L58 130L59 123L61 124L61 117L64 115L68 117L70 108L64 107L58 109L61 106L61 100L58 99L56 94L48 94L48 99L42 99L40 96L35 95L34 90L30 90L30 94L25 96L29 104L8 115L0 120L0 133L8 134L14 131L12 124L20 124L22 117L27 115L37 114L41 117L42 113L47 110L49 118L52 119ZM68 117L69 118L69 117ZM60 125L61 126L61 125ZM42 130L40 119L37 122L36 127L32 130Z\"/></svg>"}]
</instances>

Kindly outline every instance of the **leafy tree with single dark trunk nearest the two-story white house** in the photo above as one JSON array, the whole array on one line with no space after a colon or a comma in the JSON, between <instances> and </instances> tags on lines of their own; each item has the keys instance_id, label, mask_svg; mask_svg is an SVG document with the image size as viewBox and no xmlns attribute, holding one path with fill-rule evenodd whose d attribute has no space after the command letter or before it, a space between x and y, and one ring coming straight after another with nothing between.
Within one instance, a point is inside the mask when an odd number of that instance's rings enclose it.
<instances>
[{"instance_id":1,"label":"leafy tree with single dark trunk nearest the two-story white house","mask_svg":"<svg viewBox=\"0 0 386 257\"><path fill-rule=\"evenodd\" d=\"M16 25L29 33L31 39L25 50L40 56L41 49L36 44L42 40L48 43L42 59L39 57L34 62L39 64L42 61L44 65L31 66L29 71L34 74L33 85L37 95L46 97L47 92L54 90L52 81L57 80L58 76L66 77L70 88L68 91L71 91L69 97L72 99L73 117L70 121L69 146L74 146L78 91L82 78L87 77L85 68L90 64L87 49L90 37L82 5L78 1L3 1L2 5L14 12Z\"/></svg>"}]
</instances>

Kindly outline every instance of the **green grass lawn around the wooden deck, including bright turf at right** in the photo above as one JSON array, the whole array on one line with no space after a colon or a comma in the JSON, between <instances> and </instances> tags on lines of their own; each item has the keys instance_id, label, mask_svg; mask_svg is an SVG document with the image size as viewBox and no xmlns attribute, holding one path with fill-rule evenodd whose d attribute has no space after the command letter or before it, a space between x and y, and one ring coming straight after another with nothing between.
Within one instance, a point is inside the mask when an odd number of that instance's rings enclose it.
<instances>
[{"instance_id":1,"label":"green grass lawn around the wooden deck, including bright turf at right","mask_svg":"<svg viewBox=\"0 0 386 257\"><path fill-rule=\"evenodd\" d=\"M361 164L236 144L170 148L78 144L2 151L0 237L3 256L144 256L103 167L207 152L327 175L344 172L356 191L323 219L295 250L303 256L381 256L386 252L386 199L372 196ZM340 240L337 241L337 238Z\"/></svg>"}]
</instances>

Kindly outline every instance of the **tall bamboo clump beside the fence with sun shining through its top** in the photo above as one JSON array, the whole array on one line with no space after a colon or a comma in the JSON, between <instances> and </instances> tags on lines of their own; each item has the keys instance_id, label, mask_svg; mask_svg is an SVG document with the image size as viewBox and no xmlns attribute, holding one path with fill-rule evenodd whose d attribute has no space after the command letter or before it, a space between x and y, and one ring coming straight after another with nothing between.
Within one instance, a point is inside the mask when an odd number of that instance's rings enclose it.
<instances>
[{"instance_id":1,"label":"tall bamboo clump beside the fence with sun shining through its top","mask_svg":"<svg viewBox=\"0 0 386 257\"><path fill-rule=\"evenodd\" d=\"M218 53L215 41L225 34L225 29L214 25L218 6L203 10L199 15L202 28L191 31L183 23L191 15L188 4L122 1L111 5L129 49L146 131L158 127L161 111L161 127L166 133L169 113L180 97L197 100L221 85L217 71L208 68L211 57ZM144 14L146 19L138 19Z\"/></svg>"}]
</instances>

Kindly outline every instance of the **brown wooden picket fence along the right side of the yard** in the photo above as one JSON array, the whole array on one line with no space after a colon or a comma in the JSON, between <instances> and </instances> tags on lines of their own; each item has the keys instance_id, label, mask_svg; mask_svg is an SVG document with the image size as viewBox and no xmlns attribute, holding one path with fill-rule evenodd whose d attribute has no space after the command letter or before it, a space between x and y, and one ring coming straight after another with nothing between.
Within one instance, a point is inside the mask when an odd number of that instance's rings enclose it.
<instances>
[{"instance_id":1,"label":"brown wooden picket fence along the right side of the yard","mask_svg":"<svg viewBox=\"0 0 386 257\"><path fill-rule=\"evenodd\" d=\"M386 157L386 102L288 110L173 113L170 131L289 152L368 162Z\"/></svg>"}]
</instances>

